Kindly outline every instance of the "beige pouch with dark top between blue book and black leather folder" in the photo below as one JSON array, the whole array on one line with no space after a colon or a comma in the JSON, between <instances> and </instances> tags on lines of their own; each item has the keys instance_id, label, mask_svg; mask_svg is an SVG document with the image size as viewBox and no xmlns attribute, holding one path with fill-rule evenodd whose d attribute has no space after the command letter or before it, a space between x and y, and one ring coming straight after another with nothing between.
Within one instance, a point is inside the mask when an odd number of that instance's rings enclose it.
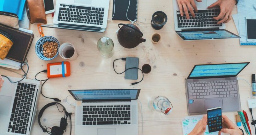
<instances>
[{"instance_id":1,"label":"beige pouch with dark top between blue book and black leather folder","mask_svg":"<svg viewBox=\"0 0 256 135\"><path fill-rule=\"evenodd\" d=\"M14 29L19 29L19 18L14 13L0 11L0 23Z\"/></svg>"}]
</instances>

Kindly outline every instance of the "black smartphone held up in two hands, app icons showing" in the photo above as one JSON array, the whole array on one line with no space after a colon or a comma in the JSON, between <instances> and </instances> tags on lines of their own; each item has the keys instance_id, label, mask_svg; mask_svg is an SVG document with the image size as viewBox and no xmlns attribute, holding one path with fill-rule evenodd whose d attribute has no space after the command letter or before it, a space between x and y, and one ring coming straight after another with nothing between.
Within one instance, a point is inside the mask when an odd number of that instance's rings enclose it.
<instances>
[{"instance_id":1,"label":"black smartphone held up in two hands, app icons showing","mask_svg":"<svg viewBox=\"0 0 256 135\"><path fill-rule=\"evenodd\" d=\"M207 118L209 132L216 132L222 129L221 107L208 109Z\"/></svg>"}]
</instances>

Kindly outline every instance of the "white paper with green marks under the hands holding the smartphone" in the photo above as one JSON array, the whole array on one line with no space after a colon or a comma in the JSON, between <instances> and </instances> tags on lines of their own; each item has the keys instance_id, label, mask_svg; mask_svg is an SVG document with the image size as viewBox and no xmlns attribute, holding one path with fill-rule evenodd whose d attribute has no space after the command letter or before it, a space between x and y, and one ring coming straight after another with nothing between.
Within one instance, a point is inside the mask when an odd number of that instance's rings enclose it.
<instances>
[{"instance_id":1,"label":"white paper with green marks under the hands holding the smartphone","mask_svg":"<svg viewBox=\"0 0 256 135\"><path fill-rule=\"evenodd\" d=\"M202 119L203 115L196 115L196 116L188 116L182 121L182 129L183 135L189 134L194 127L196 126L197 122ZM204 135L218 135L218 132L208 132L208 126L206 126L206 131Z\"/></svg>"}]
</instances>

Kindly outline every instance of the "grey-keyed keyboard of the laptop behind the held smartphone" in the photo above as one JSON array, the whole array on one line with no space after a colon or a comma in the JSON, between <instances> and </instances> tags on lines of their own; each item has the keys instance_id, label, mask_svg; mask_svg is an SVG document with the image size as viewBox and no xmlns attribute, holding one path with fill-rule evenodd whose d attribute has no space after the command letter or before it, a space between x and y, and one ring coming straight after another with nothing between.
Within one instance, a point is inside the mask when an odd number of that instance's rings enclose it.
<instances>
[{"instance_id":1,"label":"grey-keyed keyboard of the laptop behind the held smartphone","mask_svg":"<svg viewBox=\"0 0 256 135\"><path fill-rule=\"evenodd\" d=\"M188 82L189 99L237 97L236 80Z\"/></svg>"}]
</instances>

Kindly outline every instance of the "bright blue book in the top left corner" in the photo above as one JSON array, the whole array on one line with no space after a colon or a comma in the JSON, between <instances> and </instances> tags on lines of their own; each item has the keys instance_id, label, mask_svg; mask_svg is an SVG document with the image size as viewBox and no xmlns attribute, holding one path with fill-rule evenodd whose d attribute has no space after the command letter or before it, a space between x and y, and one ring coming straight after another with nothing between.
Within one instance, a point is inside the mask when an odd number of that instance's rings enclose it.
<instances>
[{"instance_id":1,"label":"bright blue book in the top left corner","mask_svg":"<svg viewBox=\"0 0 256 135\"><path fill-rule=\"evenodd\" d=\"M0 11L15 13L23 19L26 0L0 0Z\"/></svg>"}]
</instances>

